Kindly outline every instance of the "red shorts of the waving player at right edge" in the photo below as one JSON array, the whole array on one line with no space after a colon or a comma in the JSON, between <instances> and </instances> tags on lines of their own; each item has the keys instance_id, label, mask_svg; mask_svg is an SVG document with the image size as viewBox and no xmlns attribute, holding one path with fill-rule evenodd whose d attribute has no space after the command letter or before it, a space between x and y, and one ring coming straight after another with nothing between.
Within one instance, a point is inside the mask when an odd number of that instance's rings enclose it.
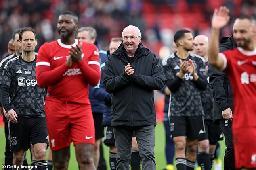
<instances>
[{"instance_id":1,"label":"red shorts of the waving player at right edge","mask_svg":"<svg viewBox=\"0 0 256 170\"><path fill-rule=\"evenodd\" d=\"M235 168L256 168L256 128L233 130Z\"/></svg>"}]
</instances>

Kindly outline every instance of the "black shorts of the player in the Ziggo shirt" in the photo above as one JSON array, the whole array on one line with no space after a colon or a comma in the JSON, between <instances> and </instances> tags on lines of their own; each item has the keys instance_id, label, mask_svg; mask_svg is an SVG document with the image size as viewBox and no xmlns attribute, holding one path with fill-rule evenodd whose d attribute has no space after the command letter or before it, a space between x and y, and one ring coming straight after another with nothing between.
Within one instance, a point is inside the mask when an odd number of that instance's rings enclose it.
<instances>
[{"instance_id":1,"label":"black shorts of the player in the Ziggo shirt","mask_svg":"<svg viewBox=\"0 0 256 170\"><path fill-rule=\"evenodd\" d=\"M37 143L48 142L48 132L45 117L26 118L17 117L18 123L9 121L9 142L11 151L19 151L21 149L28 150L30 142L32 145Z\"/></svg>"}]
</instances>

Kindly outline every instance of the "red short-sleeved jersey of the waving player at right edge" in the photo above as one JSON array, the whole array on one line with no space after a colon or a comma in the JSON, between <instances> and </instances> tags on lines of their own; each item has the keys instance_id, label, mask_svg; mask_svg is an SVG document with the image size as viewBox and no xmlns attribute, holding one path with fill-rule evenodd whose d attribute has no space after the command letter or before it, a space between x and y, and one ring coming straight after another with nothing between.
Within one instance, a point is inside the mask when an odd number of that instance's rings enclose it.
<instances>
[{"instance_id":1,"label":"red short-sleeved jersey of the waving player at right edge","mask_svg":"<svg viewBox=\"0 0 256 170\"><path fill-rule=\"evenodd\" d=\"M233 129L256 127L256 48L245 51L237 47L219 54L233 88Z\"/></svg>"}]
</instances>

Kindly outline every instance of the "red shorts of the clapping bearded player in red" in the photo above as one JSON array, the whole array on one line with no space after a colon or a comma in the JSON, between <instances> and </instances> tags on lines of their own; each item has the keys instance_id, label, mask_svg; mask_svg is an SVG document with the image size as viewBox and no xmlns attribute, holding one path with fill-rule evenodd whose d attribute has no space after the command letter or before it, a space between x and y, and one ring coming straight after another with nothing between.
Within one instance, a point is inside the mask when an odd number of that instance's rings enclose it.
<instances>
[{"instance_id":1,"label":"red shorts of the clapping bearded player in red","mask_svg":"<svg viewBox=\"0 0 256 170\"><path fill-rule=\"evenodd\" d=\"M95 130L90 105L46 99L45 113L51 150L63 149L72 141L74 145L94 145Z\"/></svg>"}]
</instances>

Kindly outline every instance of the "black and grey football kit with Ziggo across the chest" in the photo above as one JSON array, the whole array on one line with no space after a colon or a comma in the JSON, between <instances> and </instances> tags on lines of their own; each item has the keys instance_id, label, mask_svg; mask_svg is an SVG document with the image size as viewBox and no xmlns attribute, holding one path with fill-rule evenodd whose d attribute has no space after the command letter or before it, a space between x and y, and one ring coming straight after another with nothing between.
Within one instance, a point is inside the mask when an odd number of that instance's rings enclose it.
<instances>
[{"instance_id":1,"label":"black and grey football kit with Ziggo across the chest","mask_svg":"<svg viewBox=\"0 0 256 170\"><path fill-rule=\"evenodd\" d=\"M2 103L6 112L13 109L18 115L17 124L9 121L11 150L27 150L29 141L33 145L48 144L44 113L45 89L37 85L35 68L36 58L27 62L21 56L10 59L4 66Z\"/></svg>"}]
</instances>

